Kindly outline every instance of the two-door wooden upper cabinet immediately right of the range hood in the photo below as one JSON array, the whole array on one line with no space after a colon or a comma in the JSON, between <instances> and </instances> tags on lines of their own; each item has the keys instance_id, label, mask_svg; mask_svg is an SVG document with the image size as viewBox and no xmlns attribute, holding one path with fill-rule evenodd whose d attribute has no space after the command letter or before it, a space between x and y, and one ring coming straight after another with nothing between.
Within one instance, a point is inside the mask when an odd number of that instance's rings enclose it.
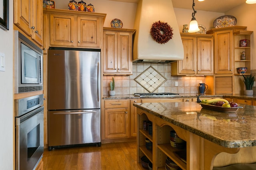
<instances>
[{"instance_id":1,"label":"two-door wooden upper cabinet immediately right of the range hood","mask_svg":"<svg viewBox=\"0 0 256 170\"><path fill-rule=\"evenodd\" d=\"M213 75L213 37L180 33L184 59L171 63L172 75Z\"/></svg>"}]
</instances>

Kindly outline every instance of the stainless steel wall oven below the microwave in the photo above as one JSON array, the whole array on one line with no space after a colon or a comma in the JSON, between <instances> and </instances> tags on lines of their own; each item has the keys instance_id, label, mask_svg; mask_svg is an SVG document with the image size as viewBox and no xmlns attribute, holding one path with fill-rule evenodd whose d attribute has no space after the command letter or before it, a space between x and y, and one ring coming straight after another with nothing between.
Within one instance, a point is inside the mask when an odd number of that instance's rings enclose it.
<instances>
[{"instance_id":1,"label":"stainless steel wall oven below the microwave","mask_svg":"<svg viewBox=\"0 0 256 170\"><path fill-rule=\"evenodd\" d=\"M15 100L16 170L33 170L44 152L43 94Z\"/></svg>"}]
</instances>

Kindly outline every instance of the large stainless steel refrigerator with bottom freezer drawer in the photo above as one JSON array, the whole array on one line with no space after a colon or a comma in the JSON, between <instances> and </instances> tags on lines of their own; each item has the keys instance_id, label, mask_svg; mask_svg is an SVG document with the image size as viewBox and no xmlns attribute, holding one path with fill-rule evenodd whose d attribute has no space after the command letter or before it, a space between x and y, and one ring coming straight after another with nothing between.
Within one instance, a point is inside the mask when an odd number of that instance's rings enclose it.
<instances>
[{"instance_id":1,"label":"large stainless steel refrigerator with bottom freezer drawer","mask_svg":"<svg viewBox=\"0 0 256 170\"><path fill-rule=\"evenodd\" d=\"M55 47L48 54L48 149L100 146L100 50Z\"/></svg>"}]
</instances>

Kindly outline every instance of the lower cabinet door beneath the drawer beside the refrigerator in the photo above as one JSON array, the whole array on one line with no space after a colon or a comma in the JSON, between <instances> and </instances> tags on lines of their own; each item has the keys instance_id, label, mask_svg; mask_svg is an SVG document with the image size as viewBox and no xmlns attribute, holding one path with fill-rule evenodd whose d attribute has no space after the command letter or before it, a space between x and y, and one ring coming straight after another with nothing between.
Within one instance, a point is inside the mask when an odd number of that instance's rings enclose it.
<instances>
[{"instance_id":1,"label":"lower cabinet door beneath the drawer beside the refrigerator","mask_svg":"<svg viewBox=\"0 0 256 170\"><path fill-rule=\"evenodd\" d=\"M105 109L105 139L128 137L128 109Z\"/></svg>"}]
</instances>

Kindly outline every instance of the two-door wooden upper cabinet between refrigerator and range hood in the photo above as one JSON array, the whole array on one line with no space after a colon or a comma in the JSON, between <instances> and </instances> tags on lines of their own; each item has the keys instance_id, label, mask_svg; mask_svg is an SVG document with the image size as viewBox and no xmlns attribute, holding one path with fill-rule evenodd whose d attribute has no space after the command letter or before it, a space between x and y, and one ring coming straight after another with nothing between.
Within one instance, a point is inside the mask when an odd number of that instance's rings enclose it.
<instances>
[{"instance_id":1,"label":"two-door wooden upper cabinet between refrigerator and range hood","mask_svg":"<svg viewBox=\"0 0 256 170\"><path fill-rule=\"evenodd\" d=\"M103 74L132 74L132 34L134 29L104 27Z\"/></svg>"}]
</instances>

